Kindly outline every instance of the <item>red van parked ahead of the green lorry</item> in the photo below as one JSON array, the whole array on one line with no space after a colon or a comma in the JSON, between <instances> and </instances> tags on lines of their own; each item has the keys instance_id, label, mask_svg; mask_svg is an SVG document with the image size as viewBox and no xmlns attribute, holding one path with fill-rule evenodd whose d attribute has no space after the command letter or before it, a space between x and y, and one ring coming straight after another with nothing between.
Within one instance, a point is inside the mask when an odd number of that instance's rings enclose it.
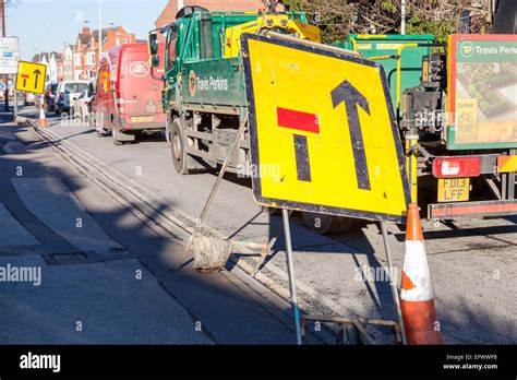
<instances>
[{"instance_id":1,"label":"red van parked ahead of the green lorry","mask_svg":"<svg viewBox=\"0 0 517 380\"><path fill-rule=\"evenodd\" d=\"M159 46L164 55L164 44ZM93 104L98 136L111 130L115 145L134 141L139 133L165 130L161 80L151 76L147 44L124 44L107 51L97 73ZM160 66L155 78L164 74Z\"/></svg>"}]
</instances>

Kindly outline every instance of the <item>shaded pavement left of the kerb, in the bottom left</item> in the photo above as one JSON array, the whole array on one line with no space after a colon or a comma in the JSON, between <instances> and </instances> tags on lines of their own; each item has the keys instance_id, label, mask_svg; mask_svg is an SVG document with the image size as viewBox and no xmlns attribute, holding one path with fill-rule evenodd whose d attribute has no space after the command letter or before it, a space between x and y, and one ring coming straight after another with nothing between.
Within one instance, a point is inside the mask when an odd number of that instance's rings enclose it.
<instances>
[{"instance_id":1,"label":"shaded pavement left of the kerb, in the bottom left","mask_svg":"<svg viewBox=\"0 0 517 380\"><path fill-rule=\"evenodd\" d=\"M0 344L296 343L287 301L237 271L173 273L184 231L159 234L11 120L0 114Z\"/></svg>"}]
</instances>

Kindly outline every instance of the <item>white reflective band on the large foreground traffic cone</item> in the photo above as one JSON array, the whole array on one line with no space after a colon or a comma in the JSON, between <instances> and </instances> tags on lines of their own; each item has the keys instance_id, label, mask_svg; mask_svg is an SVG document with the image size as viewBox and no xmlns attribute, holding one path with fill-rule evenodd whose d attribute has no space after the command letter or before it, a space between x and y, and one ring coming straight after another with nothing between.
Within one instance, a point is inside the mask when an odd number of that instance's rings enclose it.
<instances>
[{"instance_id":1,"label":"white reflective band on the large foreground traffic cone","mask_svg":"<svg viewBox=\"0 0 517 380\"><path fill-rule=\"evenodd\" d=\"M426 301L433 299L431 275L429 273L428 258L423 241L406 240L404 256L404 272L413 283L414 287L401 289L400 298L406 301Z\"/></svg>"}]
</instances>

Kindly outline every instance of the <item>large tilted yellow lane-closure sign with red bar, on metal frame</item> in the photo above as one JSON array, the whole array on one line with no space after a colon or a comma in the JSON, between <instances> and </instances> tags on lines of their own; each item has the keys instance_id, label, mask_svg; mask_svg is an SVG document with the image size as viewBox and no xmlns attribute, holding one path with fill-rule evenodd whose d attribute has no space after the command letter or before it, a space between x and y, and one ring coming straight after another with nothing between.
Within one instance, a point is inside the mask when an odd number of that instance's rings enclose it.
<instances>
[{"instance_id":1,"label":"large tilted yellow lane-closure sign with red bar, on metal frame","mask_svg":"<svg viewBox=\"0 0 517 380\"><path fill-rule=\"evenodd\" d=\"M410 200L382 67L293 38L242 37L255 200L401 221Z\"/></svg>"}]
</instances>

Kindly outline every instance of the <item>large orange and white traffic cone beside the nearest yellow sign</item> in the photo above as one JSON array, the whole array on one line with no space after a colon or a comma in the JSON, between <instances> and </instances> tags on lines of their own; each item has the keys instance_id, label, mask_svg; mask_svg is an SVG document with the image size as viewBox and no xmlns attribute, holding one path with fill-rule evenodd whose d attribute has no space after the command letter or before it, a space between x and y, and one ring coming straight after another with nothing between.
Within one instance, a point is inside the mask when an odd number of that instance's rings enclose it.
<instances>
[{"instance_id":1,"label":"large orange and white traffic cone beside the nearest yellow sign","mask_svg":"<svg viewBox=\"0 0 517 380\"><path fill-rule=\"evenodd\" d=\"M408 344L443 344L418 205L408 210L400 307Z\"/></svg>"}]
</instances>

